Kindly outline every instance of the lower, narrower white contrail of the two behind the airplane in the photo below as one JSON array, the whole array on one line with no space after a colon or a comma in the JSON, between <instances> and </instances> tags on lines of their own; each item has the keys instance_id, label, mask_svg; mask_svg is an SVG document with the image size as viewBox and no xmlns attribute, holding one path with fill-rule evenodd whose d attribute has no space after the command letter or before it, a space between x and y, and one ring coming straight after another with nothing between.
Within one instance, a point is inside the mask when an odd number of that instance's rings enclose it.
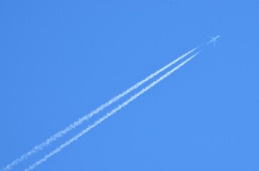
<instances>
[{"instance_id":1,"label":"lower, narrower white contrail of the two behind the airplane","mask_svg":"<svg viewBox=\"0 0 259 171\"><path fill-rule=\"evenodd\" d=\"M200 51L198 51L198 53L200 53ZM133 100L135 100L136 98L138 98L138 96L142 95L143 93L145 93L147 90L149 90L150 88L152 88L153 86L156 86L157 83L159 83L160 81L162 81L163 79L167 78L168 76L171 75L171 73L173 73L174 71L178 70L178 68L181 68L181 66L183 66L184 64L186 64L188 61L191 61L191 59L193 59L195 56L198 55L198 53L195 53L193 56L191 56L190 58L186 59L186 61L183 61L182 63L180 63L178 66L176 66L175 68L173 68L171 71L168 71L168 73L164 74L163 76L161 76L160 78L158 78L156 81L153 81L153 83L151 83L150 85L146 86L146 88L143 88L141 91L139 91L138 93L136 93L135 95L131 96L131 98L129 98L128 100L126 100L124 103L122 103L121 105L118 105L117 108L114 108L113 110L111 110L111 112L107 113L106 115L104 115L102 118L96 120L96 122L94 122L92 125L89 125L88 128L84 129L81 131L81 133L78 133L77 135L75 135L73 138L71 138L70 140L66 141L64 144L60 145L59 147L57 147L55 150L53 150L52 152L50 152L48 155L45 155L45 157L43 157L41 160L38 160L37 162L35 162L33 165L30 165L29 168L27 168L24 171L29 171L29 170L33 170L36 166L41 165L42 162L46 162L46 160L49 159L49 157L55 155L56 153L60 152L64 147L66 147L67 145L70 145L72 142L76 141L78 138L80 138L82 135L84 135L85 133L87 133L89 130L91 130L92 128L95 128L98 124L102 123L104 120L106 120L107 118L109 118L111 115L113 115L114 113L116 113L118 110L121 110L122 108L124 108L126 105L128 105L128 103L131 103Z\"/></svg>"}]
</instances>

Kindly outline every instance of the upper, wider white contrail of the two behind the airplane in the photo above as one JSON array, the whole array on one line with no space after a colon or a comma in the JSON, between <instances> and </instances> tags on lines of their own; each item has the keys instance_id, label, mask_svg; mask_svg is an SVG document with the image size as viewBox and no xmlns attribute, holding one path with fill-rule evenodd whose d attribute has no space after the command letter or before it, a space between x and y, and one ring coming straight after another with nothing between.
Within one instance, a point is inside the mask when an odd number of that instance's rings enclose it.
<instances>
[{"instance_id":1,"label":"upper, wider white contrail of the two behind the airplane","mask_svg":"<svg viewBox=\"0 0 259 171\"><path fill-rule=\"evenodd\" d=\"M157 76L159 73L161 73L162 71L166 70L166 68L172 66L174 63L180 61L182 58L188 56L190 53L192 53L193 51L195 51L199 47L200 46L198 46L196 48L193 48L191 51L188 51L187 53L183 54L182 56L176 58L176 60L172 61L171 63L168 63L168 65L166 65L163 68L159 69L155 73L152 73L151 75L147 76L145 79L143 79L142 81L139 81L138 83L136 83L131 88L128 88L127 90L123 91L123 93L120 93L119 95L116 95L115 97L111 98L111 100L108 100L108 102L103 103L103 105L100 105L98 108L96 108L95 110L91 111L91 113L88 113L87 115L84 115L82 118L79 118L77 121L71 123L71 125L68 125L66 128L64 128L64 130L61 130L58 133L52 135L50 138L48 138L47 140L45 140L41 144L36 145L35 147L33 147L29 152L26 152L24 155L21 155L21 157L17 158L13 162L11 162L9 165L6 165L6 167L3 167L1 171L11 170L11 168L14 167L15 165L18 165L19 162L25 160L30 155L34 155L39 150L44 149L44 147L50 145L51 142L54 142L58 138L61 138L63 135L68 133L70 130L73 130L78 125L81 125L81 123L83 123L85 120L88 120L88 118L91 118L93 115L95 115L96 113L99 113L101 110L103 110L104 108L108 107L112 103L115 103L117 100L119 100L120 98L123 98L128 93L131 93L131 91L133 91L136 88L138 88L139 86L143 85L143 83L146 83L151 78Z\"/></svg>"}]
</instances>

